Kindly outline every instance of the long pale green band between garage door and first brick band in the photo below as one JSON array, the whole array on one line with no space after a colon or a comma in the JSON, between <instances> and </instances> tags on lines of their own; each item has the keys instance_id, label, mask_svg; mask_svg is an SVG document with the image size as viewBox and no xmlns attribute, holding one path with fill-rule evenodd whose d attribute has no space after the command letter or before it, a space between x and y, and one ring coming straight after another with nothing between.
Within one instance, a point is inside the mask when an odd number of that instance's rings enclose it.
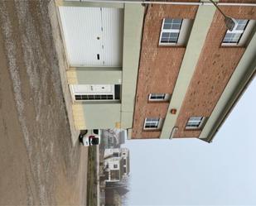
<instances>
[{"instance_id":1,"label":"long pale green band between garage door and first brick band","mask_svg":"<svg viewBox=\"0 0 256 206\"><path fill-rule=\"evenodd\" d=\"M122 128L133 126L144 10L141 4L129 3L124 6Z\"/></svg>"}]
</instances>

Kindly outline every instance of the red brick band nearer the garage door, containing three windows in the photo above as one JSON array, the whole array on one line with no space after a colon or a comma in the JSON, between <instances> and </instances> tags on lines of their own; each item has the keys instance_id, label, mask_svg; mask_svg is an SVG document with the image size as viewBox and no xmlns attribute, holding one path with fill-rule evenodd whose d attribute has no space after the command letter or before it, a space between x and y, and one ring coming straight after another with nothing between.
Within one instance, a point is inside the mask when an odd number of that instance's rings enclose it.
<instances>
[{"instance_id":1,"label":"red brick band nearer the garage door, containing three windows","mask_svg":"<svg viewBox=\"0 0 256 206\"><path fill-rule=\"evenodd\" d=\"M194 1L195 2L195 1ZM195 19L197 6L153 5L147 9L142 36L138 85L133 116L133 138L157 138L161 132L145 132L145 117L166 117L169 103L148 103L149 93L172 93L186 48L158 46L162 19Z\"/></svg>"}]
</instances>

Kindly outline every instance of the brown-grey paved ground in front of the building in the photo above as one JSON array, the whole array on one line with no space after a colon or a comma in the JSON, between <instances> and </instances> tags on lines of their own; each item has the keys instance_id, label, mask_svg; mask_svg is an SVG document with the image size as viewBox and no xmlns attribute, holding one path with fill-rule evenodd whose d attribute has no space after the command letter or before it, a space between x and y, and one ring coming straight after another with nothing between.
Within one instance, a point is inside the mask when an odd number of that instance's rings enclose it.
<instances>
[{"instance_id":1,"label":"brown-grey paved ground in front of the building","mask_svg":"<svg viewBox=\"0 0 256 206\"><path fill-rule=\"evenodd\" d=\"M85 204L48 6L0 0L0 205Z\"/></svg>"}]
</instances>

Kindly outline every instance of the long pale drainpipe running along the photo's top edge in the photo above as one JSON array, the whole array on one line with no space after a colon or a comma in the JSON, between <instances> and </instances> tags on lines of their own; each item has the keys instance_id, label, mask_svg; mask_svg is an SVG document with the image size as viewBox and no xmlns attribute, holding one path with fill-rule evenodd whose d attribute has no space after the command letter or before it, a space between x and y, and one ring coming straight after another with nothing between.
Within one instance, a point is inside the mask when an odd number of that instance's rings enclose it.
<instances>
[{"instance_id":1,"label":"long pale drainpipe running along the photo's top edge","mask_svg":"<svg viewBox=\"0 0 256 206\"><path fill-rule=\"evenodd\" d=\"M114 0L82 0L83 2L109 2L109 3L143 3L143 4L167 4L167 5L188 5L188 6L214 6L212 2L150 2L150 1L114 1ZM246 2L215 2L217 6L256 7L256 3Z\"/></svg>"}]
</instances>

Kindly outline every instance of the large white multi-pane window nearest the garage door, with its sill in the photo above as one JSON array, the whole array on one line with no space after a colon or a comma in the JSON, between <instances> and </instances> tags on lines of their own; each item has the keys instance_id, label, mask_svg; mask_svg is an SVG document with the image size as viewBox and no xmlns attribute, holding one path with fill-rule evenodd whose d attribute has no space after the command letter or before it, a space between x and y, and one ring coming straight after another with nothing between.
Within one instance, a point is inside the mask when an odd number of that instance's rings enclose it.
<instances>
[{"instance_id":1,"label":"large white multi-pane window nearest the garage door, with its sill","mask_svg":"<svg viewBox=\"0 0 256 206\"><path fill-rule=\"evenodd\" d=\"M191 19L164 18L162 20L159 45L186 45L192 22Z\"/></svg>"}]
</instances>

